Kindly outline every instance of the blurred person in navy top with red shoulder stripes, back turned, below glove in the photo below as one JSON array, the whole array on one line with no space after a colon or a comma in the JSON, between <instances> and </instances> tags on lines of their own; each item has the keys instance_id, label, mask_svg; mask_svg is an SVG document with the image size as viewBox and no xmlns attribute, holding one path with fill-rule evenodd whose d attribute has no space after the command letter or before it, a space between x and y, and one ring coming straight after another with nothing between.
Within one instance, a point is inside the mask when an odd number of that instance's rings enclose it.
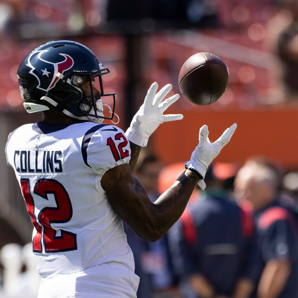
<instances>
[{"instance_id":1,"label":"blurred person in navy top with red shoulder stripes, back turned, below glove","mask_svg":"<svg viewBox=\"0 0 298 298\"><path fill-rule=\"evenodd\" d=\"M169 231L184 298L232 297L238 281L248 274L252 217L230 199L213 166L204 179L206 190Z\"/></svg>"}]
</instances>

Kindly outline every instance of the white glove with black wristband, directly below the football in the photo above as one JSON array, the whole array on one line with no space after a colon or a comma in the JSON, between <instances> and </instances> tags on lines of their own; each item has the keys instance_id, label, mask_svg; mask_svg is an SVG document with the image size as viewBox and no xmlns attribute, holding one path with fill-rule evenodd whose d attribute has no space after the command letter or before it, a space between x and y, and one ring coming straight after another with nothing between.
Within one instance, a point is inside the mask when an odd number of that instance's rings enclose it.
<instances>
[{"instance_id":1,"label":"white glove with black wristband, directly below the football","mask_svg":"<svg viewBox=\"0 0 298 298\"><path fill-rule=\"evenodd\" d=\"M231 127L224 131L219 139L213 143L210 143L208 138L208 126L203 125L200 128L199 144L193 151L190 161L185 162L184 165L187 169L193 170L201 177L201 180L198 182L198 186L201 187L202 190L206 188L204 178L209 164L216 156L218 156L221 149L224 148L224 146L230 141L236 128L237 124L234 123Z\"/></svg>"}]
</instances>

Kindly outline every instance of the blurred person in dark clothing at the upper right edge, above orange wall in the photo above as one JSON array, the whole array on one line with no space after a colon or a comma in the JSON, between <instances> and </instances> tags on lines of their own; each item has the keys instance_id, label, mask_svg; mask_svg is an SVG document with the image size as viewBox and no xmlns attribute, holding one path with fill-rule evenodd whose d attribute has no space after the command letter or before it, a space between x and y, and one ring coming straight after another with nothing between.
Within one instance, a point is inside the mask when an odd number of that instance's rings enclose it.
<instances>
[{"instance_id":1,"label":"blurred person in dark clothing at the upper right edge, above orange wall","mask_svg":"<svg viewBox=\"0 0 298 298\"><path fill-rule=\"evenodd\" d=\"M266 25L265 49L275 55L271 73L273 96L278 102L298 100L298 1L276 1L277 13Z\"/></svg>"}]
</instances>

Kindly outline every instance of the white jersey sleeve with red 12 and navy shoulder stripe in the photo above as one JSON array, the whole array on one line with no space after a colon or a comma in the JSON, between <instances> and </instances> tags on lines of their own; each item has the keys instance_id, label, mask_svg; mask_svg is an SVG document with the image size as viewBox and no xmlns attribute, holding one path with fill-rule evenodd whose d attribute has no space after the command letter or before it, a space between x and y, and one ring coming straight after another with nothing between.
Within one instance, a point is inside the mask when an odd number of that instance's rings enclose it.
<instances>
[{"instance_id":1,"label":"white jersey sleeve with red 12 and navy shoulder stripe","mask_svg":"<svg viewBox=\"0 0 298 298\"><path fill-rule=\"evenodd\" d=\"M130 161L130 146L122 129L116 126L94 126L86 132L82 142L85 164L103 175L108 169Z\"/></svg>"}]
</instances>

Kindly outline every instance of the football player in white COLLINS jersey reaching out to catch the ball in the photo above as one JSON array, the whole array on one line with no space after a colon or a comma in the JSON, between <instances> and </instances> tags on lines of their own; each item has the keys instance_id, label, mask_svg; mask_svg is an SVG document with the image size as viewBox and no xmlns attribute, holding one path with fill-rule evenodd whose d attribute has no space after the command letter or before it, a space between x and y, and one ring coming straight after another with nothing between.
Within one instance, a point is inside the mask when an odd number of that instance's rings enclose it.
<instances>
[{"instance_id":1,"label":"football player in white COLLINS jersey reaching out to catch the ball","mask_svg":"<svg viewBox=\"0 0 298 298\"><path fill-rule=\"evenodd\" d=\"M74 41L43 44L18 68L24 107L41 111L43 121L13 131L5 152L34 226L40 298L136 297L139 277L122 220L146 240L161 238L195 186L204 188L208 165L237 126L210 143L204 125L186 170L151 203L132 170L153 131L182 119L163 115L179 95L163 101L172 86L157 92L153 83L124 132L102 123L114 119L115 94L105 94L102 83L108 73L90 49Z\"/></svg>"}]
</instances>

